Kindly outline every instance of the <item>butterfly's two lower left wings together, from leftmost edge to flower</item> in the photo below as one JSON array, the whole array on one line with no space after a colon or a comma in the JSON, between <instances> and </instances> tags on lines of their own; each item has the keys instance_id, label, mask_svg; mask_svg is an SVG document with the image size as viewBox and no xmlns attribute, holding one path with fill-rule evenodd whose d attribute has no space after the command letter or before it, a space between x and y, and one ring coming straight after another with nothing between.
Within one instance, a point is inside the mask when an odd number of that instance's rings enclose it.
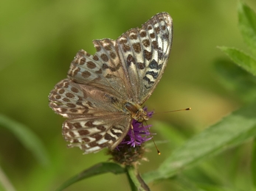
<instances>
[{"instance_id":1,"label":"butterfly's two lower left wings together, from leftmost edge to flower","mask_svg":"<svg viewBox=\"0 0 256 191\"><path fill-rule=\"evenodd\" d=\"M122 111L122 101L70 79L55 85L49 101L56 113L69 118L63 123L63 137L69 146L77 146L85 154L116 147L131 126L131 117Z\"/></svg>"}]
</instances>

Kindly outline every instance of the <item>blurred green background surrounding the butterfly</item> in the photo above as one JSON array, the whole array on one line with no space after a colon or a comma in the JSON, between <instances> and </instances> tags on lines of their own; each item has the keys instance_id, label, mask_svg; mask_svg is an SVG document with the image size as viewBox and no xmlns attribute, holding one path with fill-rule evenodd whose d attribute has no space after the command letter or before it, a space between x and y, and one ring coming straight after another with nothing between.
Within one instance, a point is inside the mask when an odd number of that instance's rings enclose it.
<instances>
[{"instance_id":1,"label":"blurred green background surrounding the butterfly","mask_svg":"<svg viewBox=\"0 0 256 191\"><path fill-rule=\"evenodd\" d=\"M245 2L256 10L255 0ZM192 110L163 113L150 120L154 125L151 131L157 133L156 140L166 140L161 134L163 124L170 127L173 137L165 145L159 144L161 156L151 148L146 154L149 162L143 162L139 171L156 169L185 140L240 107L243 101L232 88L224 86L214 66L216 60L229 60L216 46L246 49L238 30L237 4L234 0L2 1L0 113L37 134L48 158L48 162L38 161L13 131L0 126L0 165L16 190L55 190L76 173L108 159L104 151L83 155L78 148L66 148L61 135L64 119L48 107L47 96L57 82L66 78L78 50L83 48L94 54L92 40L117 39L157 12L169 12L173 18L173 48L165 74L146 105L155 112L185 107ZM241 169L226 165L226 160L234 157L231 150L211 159L214 167L222 169L224 177L230 178L240 170L241 177L249 179L246 171L249 146L238 148L238 155L243 156ZM187 172L195 181L209 181L201 174L196 168ZM238 187L246 184L241 177L219 180L215 176L220 184L236 182ZM182 182L186 184L186 180L170 180L150 187L179 190ZM130 188L125 175L108 173L80 181L66 190Z\"/></svg>"}]
</instances>

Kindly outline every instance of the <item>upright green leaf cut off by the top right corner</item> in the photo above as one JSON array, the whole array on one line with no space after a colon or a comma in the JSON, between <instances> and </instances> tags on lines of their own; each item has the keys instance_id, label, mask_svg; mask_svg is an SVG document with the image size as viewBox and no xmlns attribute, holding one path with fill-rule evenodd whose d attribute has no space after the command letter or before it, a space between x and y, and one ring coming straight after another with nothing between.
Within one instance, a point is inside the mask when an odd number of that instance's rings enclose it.
<instances>
[{"instance_id":1,"label":"upright green leaf cut off by the top right corner","mask_svg":"<svg viewBox=\"0 0 256 191\"><path fill-rule=\"evenodd\" d=\"M256 14L243 1L238 4L238 24L244 42L256 56Z\"/></svg>"}]
</instances>

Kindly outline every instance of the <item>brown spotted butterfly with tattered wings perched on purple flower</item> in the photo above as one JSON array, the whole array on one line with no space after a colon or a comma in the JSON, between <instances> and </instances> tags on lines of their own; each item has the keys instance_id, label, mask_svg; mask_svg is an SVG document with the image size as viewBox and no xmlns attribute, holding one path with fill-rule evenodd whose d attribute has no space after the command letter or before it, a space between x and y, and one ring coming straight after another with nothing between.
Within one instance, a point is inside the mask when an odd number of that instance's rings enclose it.
<instances>
[{"instance_id":1,"label":"brown spotted butterfly with tattered wings perched on purple flower","mask_svg":"<svg viewBox=\"0 0 256 191\"><path fill-rule=\"evenodd\" d=\"M133 119L148 120L142 108L165 71L173 21L160 12L117 40L94 40L96 53L77 52L67 79L49 94L49 107L67 120L62 134L84 154L114 149Z\"/></svg>"}]
</instances>

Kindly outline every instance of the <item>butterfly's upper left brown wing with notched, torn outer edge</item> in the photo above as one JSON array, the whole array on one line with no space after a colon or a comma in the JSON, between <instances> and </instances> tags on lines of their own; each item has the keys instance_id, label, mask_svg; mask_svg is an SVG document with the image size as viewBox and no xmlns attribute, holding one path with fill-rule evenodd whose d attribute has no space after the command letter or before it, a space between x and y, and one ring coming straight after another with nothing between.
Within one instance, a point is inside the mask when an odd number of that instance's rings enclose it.
<instances>
[{"instance_id":1,"label":"butterfly's upper left brown wing with notched, torn outer edge","mask_svg":"<svg viewBox=\"0 0 256 191\"><path fill-rule=\"evenodd\" d=\"M130 82L115 49L115 41L110 39L94 40L97 53L79 51L69 68L68 77L80 84L102 88L108 93L117 94L123 100L132 98Z\"/></svg>"}]
</instances>

